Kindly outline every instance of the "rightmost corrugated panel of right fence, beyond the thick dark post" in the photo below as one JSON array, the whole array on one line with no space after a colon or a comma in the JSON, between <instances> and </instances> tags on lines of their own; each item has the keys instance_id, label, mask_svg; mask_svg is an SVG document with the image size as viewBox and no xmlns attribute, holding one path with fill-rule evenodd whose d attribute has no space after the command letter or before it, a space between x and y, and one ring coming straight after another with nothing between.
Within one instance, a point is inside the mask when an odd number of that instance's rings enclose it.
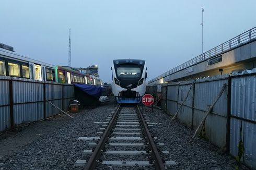
<instances>
[{"instance_id":1,"label":"rightmost corrugated panel of right fence, beyond the thick dark post","mask_svg":"<svg viewBox=\"0 0 256 170\"><path fill-rule=\"evenodd\" d=\"M242 161L250 167L256 167L256 76L232 78L231 82L231 121L230 153L238 154L240 127L244 153Z\"/></svg>"}]
</instances>

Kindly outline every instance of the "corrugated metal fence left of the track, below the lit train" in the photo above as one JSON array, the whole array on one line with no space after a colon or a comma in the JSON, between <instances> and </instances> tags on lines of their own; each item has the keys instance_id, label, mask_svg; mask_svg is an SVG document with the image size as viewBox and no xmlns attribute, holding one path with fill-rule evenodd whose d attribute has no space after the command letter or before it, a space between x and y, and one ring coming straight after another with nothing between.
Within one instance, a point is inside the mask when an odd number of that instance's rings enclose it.
<instances>
[{"instance_id":1,"label":"corrugated metal fence left of the track, below the lit train","mask_svg":"<svg viewBox=\"0 0 256 170\"><path fill-rule=\"evenodd\" d=\"M0 76L0 131L68 111L74 86Z\"/></svg>"}]
</instances>

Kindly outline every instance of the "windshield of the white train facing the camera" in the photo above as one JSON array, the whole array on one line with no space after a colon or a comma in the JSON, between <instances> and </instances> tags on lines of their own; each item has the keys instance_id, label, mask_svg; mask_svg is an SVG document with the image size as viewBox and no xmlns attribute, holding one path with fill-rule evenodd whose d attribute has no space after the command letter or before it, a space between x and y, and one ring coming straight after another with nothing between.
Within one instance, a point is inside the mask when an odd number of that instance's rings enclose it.
<instances>
[{"instance_id":1,"label":"windshield of the white train facing the camera","mask_svg":"<svg viewBox=\"0 0 256 170\"><path fill-rule=\"evenodd\" d=\"M120 65L117 67L117 75L121 78L141 77L141 68L138 65Z\"/></svg>"}]
</instances>

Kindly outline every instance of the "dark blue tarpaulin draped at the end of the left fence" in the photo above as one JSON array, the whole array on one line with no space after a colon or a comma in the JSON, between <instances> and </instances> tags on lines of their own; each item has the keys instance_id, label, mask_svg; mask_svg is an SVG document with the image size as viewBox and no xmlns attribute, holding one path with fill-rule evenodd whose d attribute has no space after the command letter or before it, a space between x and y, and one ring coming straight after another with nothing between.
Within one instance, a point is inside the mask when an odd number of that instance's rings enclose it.
<instances>
[{"instance_id":1,"label":"dark blue tarpaulin draped at the end of the left fence","mask_svg":"<svg viewBox=\"0 0 256 170\"><path fill-rule=\"evenodd\" d=\"M80 84L80 83L76 83L74 84L76 87L78 87L80 90L86 92L89 95L94 96L95 98L100 98L103 89L100 86L92 86L92 85L87 85L87 84Z\"/></svg>"}]
</instances>

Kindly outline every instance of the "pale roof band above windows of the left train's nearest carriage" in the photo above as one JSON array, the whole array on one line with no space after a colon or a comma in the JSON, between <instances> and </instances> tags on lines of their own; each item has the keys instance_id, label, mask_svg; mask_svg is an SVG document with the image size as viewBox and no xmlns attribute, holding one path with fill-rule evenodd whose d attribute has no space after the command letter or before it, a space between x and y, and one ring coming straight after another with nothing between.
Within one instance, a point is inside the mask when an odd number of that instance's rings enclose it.
<instances>
[{"instance_id":1,"label":"pale roof band above windows of the left train's nearest carriage","mask_svg":"<svg viewBox=\"0 0 256 170\"><path fill-rule=\"evenodd\" d=\"M52 64L40 62L39 60L31 59L29 57L17 54L16 52L13 52L13 51L5 50L3 48L0 48L0 55L10 58L10 59L21 60L22 62L31 62L31 63L35 63L35 64L44 65L46 67L54 68L54 65L52 65Z\"/></svg>"}]
</instances>

